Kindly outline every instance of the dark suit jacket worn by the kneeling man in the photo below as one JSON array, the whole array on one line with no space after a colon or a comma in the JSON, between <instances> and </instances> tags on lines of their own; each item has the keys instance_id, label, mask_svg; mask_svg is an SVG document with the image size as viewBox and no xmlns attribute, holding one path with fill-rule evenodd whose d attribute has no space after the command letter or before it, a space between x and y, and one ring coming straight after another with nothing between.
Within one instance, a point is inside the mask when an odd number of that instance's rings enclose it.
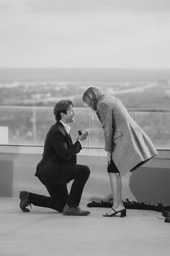
<instances>
[{"instance_id":1,"label":"dark suit jacket worn by the kneeling man","mask_svg":"<svg viewBox=\"0 0 170 256\"><path fill-rule=\"evenodd\" d=\"M45 138L42 160L37 164L35 176L48 184L66 184L70 182L76 154L81 150L81 143L74 144L66 129L57 121L50 127Z\"/></svg>"}]
</instances>

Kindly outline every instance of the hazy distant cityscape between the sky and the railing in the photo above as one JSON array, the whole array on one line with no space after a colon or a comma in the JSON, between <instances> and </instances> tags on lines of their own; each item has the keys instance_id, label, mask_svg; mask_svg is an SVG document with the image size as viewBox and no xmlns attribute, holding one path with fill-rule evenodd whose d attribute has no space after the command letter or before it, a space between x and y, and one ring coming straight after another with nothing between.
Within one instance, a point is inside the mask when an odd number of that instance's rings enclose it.
<instances>
[{"instance_id":1,"label":"hazy distant cityscape between the sky and the railing","mask_svg":"<svg viewBox=\"0 0 170 256\"><path fill-rule=\"evenodd\" d=\"M0 105L54 106L70 98L79 107L89 86L127 108L170 108L170 71L143 69L0 69Z\"/></svg>"}]
</instances>

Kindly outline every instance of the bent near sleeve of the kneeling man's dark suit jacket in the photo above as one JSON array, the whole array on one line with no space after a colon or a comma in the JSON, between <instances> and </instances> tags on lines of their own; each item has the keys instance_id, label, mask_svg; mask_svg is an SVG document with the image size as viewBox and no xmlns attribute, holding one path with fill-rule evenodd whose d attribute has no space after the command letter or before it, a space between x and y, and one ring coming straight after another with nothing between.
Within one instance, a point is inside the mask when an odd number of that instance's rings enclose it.
<instances>
[{"instance_id":1,"label":"bent near sleeve of the kneeling man's dark suit jacket","mask_svg":"<svg viewBox=\"0 0 170 256\"><path fill-rule=\"evenodd\" d=\"M63 161L69 161L74 155L80 152L81 143L77 140L68 148L66 137L61 132L55 132L51 137L51 143L55 152Z\"/></svg>"}]
</instances>

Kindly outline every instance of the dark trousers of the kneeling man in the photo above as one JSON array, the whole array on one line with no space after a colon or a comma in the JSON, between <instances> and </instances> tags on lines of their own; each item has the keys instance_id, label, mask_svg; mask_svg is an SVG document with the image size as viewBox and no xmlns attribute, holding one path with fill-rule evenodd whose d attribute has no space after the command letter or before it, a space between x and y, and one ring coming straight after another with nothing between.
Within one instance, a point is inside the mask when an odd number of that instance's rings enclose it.
<instances>
[{"instance_id":1,"label":"dark trousers of the kneeling man","mask_svg":"<svg viewBox=\"0 0 170 256\"><path fill-rule=\"evenodd\" d=\"M69 194L67 184L47 184L47 182L39 178L40 182L48 189L50 197L29 192L29 203L40 207L52 208L59 212L63 211L65 205L77 207L79 206L84 185L89 178L89 174L90 170L88 166L75 164L71 173L70 181L73 180L73 184L71 185Z\"/></svg>"}]
</instances>

